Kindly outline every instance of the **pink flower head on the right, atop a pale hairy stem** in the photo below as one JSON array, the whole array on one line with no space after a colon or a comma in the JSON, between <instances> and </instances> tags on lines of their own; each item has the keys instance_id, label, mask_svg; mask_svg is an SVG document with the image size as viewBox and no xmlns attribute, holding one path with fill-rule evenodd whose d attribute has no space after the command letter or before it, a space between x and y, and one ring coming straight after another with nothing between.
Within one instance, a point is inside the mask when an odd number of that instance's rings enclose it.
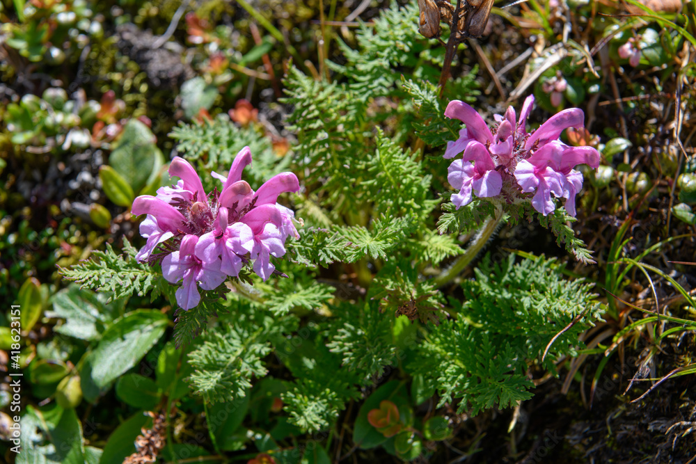
<instances>
[{"instance_id":1,"label":"pink flower head on the right, atop a pale hairy stem","mask_svg":"<svg viewBox=\"0 0 696 464\"><path fill-rule=\"evenodd\" d=\"M450 165L448 181L459 193L452 195L457 208L467 205L473 193L480 198L501 195L507 202L516 202L532 193L532 207L546 216L555 209L551 193L565 198L565 209L575 216L575 195L583 186L583 175L574 168L578 164L599 166L599 152L592 147L571 147L558 140L569 127L584 127L582 110L566 109L552 116L539 129L528 133L526 122L534 97L528 97L519 119L509 106L505 115L497 117L493 131L475 109L454 100L445 116L466 124L457 141L448 142L445 159L464 152Z\"/></svg>"}]
</instances>

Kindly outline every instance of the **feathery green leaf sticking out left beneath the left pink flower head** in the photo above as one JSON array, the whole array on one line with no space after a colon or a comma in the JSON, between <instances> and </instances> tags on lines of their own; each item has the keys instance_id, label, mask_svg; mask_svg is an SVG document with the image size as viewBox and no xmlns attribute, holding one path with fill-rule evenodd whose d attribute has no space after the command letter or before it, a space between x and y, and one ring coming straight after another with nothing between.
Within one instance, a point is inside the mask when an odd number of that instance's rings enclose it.
<instances>
[{"instance_id":1,"label":"feathery green leaf sticking out left beneath the left pink flower head","mask_svg":"<svg viewBox=\"0 0 696 464\"><path fill-rule=\"evenodd\" d=\"M70 268L61 268L61 274L74 280L81 288L112 294L112 298L126 298L136 293L139 296L150 294L150 301L159 296L158 280L161 274L148 264L135 259L138 253L124 237L124 255L117 255L111 245L106 243L106 251L95 251L86 262Z\"/></svg>"}]
</instances>

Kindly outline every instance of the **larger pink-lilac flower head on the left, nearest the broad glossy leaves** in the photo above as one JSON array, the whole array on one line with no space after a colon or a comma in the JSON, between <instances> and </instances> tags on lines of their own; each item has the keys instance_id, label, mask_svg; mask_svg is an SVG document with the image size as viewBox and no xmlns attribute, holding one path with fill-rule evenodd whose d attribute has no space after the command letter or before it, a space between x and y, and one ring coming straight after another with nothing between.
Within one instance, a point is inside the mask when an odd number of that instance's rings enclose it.
<instances>
[{"instance_id":1,"label":"larger pink-lilac flower head on the left, nearest the broad glossy leaves","mask_svg":"<svg viewBox=\"0 0 696 464\"><path fill-rule=\"evenodd\" d=\"M169 174L179 177L171 187L161 187L157 196L141 195L132 213L147 214L140 233L148 241L136 255L140 262L161 259L164 278L182 282L177 303L189 310L200 302L198 286L213 290L228 276L236 277L253 260L253 271L263 280L275 271L270 257L285 254L285 239L299 237L292 224L294 213L278 205L278 195L299 191L293 173L281 173L257 191L242 180L242 170L251 164L251 151L237 154L227 177L212 173L222 189L205 193L200 177L188 161L176 157ZM154 253L164 243L164 251Z\"/></svg>"}]
</instances>

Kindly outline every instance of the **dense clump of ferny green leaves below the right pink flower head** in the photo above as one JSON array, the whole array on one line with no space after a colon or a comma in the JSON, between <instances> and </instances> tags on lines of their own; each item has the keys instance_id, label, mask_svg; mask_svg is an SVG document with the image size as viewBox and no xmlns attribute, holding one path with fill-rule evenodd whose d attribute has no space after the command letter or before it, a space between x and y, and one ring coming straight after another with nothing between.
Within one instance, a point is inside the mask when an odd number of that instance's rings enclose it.
<instances>
[{"instance_id":1,"label":"dense clump of ferny green leaves below the right pink flower head","mask_svg":"<svg viewBox=\"0 0 696 464\"><path fill-rule=\"evenodd\" d=\"M553 360L574 355L581 346L578 335L601 313L591 286L564 280L562 266L553 259L514 264L511 255L492 264L487 256L476 279L461 287L464 303L451 301L460 306L457 319L429 325L419 355L409 365L440 392L440 406L461 399L460 412L471 408L477 414L530 398L528 360L541 358L553 337L582 315L553 341L542 363L555 373Z\"/></svg>"}]
</instances>

